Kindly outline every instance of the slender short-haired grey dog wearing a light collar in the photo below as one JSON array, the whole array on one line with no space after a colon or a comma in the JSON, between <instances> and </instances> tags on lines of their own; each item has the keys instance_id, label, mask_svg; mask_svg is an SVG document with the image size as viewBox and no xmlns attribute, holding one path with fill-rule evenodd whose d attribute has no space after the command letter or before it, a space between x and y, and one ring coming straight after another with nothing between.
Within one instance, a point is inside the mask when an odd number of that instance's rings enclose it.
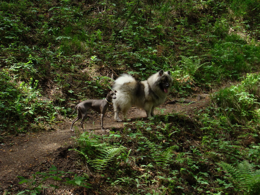
<instances>
[{"instance_id":1,"label":"slender short-haired grey dog wearing a light collar","mask_svg":"<svg viewBox=\"0 0 260 195\"><path fill-rule=\"evenodd\" d=\"M116 99L116 91L112 91L111 89L108 90L108 94L107 94L107 97L103 100L85 100L81 103L79 103L78 105L76 105L73 113L76 111L78 111L78 115L77 117L72 121L72 124L71 124L71 127L70 127L70 131L73 131L72 129L72 126L74 125L74 123L81 119L81 128L84 130L84 127L83 127L83 122L84 120L86 119L87 117L87 110L89 108L95 110L96 112L98 112L99 114L101 114L101 129L103 130L103 118L104 118L104 115L105 113L107 112L108 110L108 107L109 107L109 103L112 103L112 99ZM73 114L71 113L71 114Z\"/></svg>"}]
</instances>

